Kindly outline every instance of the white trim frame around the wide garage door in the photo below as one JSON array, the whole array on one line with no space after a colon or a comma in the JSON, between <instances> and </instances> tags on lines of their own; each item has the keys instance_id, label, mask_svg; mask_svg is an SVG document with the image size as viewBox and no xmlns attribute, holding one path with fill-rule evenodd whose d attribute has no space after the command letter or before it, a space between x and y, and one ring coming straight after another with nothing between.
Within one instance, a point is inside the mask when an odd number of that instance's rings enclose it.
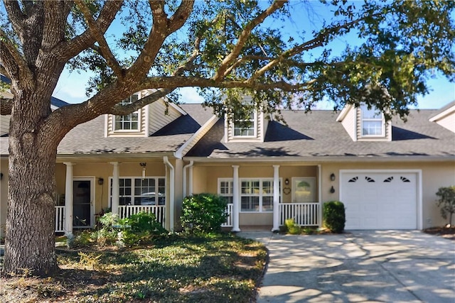
<instances>
[{"instance_id":1,"label":"white trim frame around the wide garage door","mask_svg":"<svg viewBox=\"0 0 455 303\"><path fill-rule=\"evenodd\" d=\"M343 183L343 174L346 173L414 173L416 174L416 184L417 184L417 229L422 229L423 228L423 218L422 218L422 170L340 170L338 172L338 175L340 176L338 179L338 188L340 191L340 201L343 202L343 187L341 184Z\"/></svg>"}]
</instances>

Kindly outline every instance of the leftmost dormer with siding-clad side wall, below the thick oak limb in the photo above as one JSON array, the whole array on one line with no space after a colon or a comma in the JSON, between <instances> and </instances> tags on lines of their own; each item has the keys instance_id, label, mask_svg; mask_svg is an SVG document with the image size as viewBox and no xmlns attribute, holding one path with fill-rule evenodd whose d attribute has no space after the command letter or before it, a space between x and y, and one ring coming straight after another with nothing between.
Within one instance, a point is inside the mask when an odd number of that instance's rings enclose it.
<instances>
[{"instance_id":1,"label":"leftmost dormer with siding-clad side wall, below the thick oak limb","mask_svg":"<svg viewBox=\"0 0 455 303\"><path fill-rule=\"evenodd\" d=\"M144 89L124 99L120 104L132 104L153 91ZM158 99L154 103L127 115L105 115L105 137L148 137L178 117L186 115L176 104Z\"/></svg>"}]
</instances>

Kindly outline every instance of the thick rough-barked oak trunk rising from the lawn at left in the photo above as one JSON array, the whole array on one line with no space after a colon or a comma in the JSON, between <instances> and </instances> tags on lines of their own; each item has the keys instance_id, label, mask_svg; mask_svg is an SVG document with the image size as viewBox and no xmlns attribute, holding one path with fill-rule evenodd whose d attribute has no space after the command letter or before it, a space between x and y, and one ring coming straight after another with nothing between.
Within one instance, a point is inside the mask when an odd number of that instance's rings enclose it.
<instances>
[{"instance_id":1,"label":"thick rough-barked oak trunk rising from the lawn at left","mask_svg":"<svg viewBox=\"0 0 455 303\"><path fill-rule=\"evenodd\" d=\"M44 101L47 98L34 92L19 97L23 99L16 102L10 122L9 209L3 271L6 275L45 276L58 268L54 193L59 140L43 131L50 113L49 101Z\"/></svg>"}]
</instances>

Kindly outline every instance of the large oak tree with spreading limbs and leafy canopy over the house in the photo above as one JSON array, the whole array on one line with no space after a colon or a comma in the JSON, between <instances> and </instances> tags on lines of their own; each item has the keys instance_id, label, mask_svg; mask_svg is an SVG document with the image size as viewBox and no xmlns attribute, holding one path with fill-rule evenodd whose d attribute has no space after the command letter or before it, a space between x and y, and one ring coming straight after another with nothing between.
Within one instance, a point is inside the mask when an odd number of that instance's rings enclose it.
<instances>
[{"instance_id":1,"label":"large oak tree with spreading limbs and leafy canopy over the house","mask_svg":"<svg viewBox=\"0 0 455 303\"><path fill-rule=\"evenodd\" d=\"M310 109L326 98L338 109L365 102L387 116L405 117L416 97L427 93L425 82L434 72L454 80L455 2L322 1L323 16L332 16L311 29L304 18L317 13L313 5L4 0L1 73L11 79L14 95L0 100L1 114L11 114L4 272L27 268L48 275L57 268L57 146L96 116L127 114L175 97L179 87L199 87L205 104L220 114L245 109L240 98L250 94L254 106L277 116L279 109ZM280 27L289 20L301 28L294 36ZM116 37L107 35L112 24ZM343 35L357 38L332 50ZM95 72L87 86L91 97L50 111L65 66ZM140 89L156 92L119 105Z\"/></svg>"}]
</instances>

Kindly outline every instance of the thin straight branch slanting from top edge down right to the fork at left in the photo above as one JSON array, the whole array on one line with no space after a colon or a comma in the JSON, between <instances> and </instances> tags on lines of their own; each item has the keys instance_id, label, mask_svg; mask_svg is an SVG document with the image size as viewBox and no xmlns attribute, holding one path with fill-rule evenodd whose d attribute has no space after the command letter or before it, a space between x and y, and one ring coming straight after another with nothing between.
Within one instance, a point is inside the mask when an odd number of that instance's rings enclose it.
<instances>
[{"instance_id":1,"label":"thin straight branch slanting from top edge down right to the fork at left","mask_svg":"<svg viewBox=\"0 0 455 303\"><path fill-rule=\"evenodd\" d=\"M120 67L119 62L117 59L114 57L112 54L111 49L109 48L109 45L107 45L107 41L105 39L105 35L102 33L100 27L98 26L97 22L93 18L92 14L90 13L90 10L87 8L87 5L85 5L85 2L82 0L77 0L76 1L77 6L79 6L80 10L84 14L85 21L88 24L89 30L91 30L91 33L95 36L95 39L99 43L100 47L98 49L100 55L104 57L107 61L107 64L109 67L112 68L114 71L114 74L117 75L119 79L122 79L124 76L124 71L122 70L122 67Z\"/></svg>"}]
</instances>

